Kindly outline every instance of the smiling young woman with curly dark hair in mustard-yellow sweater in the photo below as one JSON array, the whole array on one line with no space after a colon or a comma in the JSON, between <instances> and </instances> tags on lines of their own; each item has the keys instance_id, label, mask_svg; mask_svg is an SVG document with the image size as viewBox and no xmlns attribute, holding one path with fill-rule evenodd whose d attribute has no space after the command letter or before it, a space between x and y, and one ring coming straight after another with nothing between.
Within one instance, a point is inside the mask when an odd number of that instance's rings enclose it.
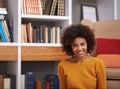
<instances>
[{"instance_id":1,"label":"smiling young woman with curly dark hair in mustard-yellow sweater","mask_svg":"<svg viewBox=\"0 0 120 89\"><path fill-rule=\"evenodd\" d=\"M60 89L106 89L105 65L90 55L95 46L93 31L82 24L71 25L63 33L62 45L70 58L58 64Z\"/></svg>"}]
</instances>

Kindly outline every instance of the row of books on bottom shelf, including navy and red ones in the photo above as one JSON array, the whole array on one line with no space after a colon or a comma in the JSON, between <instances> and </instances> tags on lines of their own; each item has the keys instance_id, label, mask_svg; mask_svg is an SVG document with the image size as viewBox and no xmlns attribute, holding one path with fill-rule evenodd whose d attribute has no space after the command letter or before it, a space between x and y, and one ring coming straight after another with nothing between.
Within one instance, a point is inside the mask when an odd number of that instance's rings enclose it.
<instances>
[{"instance_id":1,"label":"row of books on bottom shelf, including navy and red ones","mask_svg":"<svg viewBox=\"0 0 120 89\"><path fill-rule=\"evenodd\" d=\"M21 75L21 89L60 89L57 74L47 74L42 80L35 79L34 72Z\"/></svg>"}]
</instances>

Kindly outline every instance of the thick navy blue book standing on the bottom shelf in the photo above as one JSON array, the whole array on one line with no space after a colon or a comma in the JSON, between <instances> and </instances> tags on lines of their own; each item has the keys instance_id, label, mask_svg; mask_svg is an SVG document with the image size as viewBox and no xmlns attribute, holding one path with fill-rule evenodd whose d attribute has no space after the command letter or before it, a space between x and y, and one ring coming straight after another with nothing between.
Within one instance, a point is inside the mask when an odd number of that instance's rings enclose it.
<instances>
[{"instance_id":1,"label":"thick navy blue book standing on the bottom shelf","mask_svg":"<svg viewBox=\"0 0 120 89\"><path fill-rule=\"evenodd\" d=\"M27 72L25 75L25 89L35 89L35 75L33 72Z\"/></svg>"}]
</instances>

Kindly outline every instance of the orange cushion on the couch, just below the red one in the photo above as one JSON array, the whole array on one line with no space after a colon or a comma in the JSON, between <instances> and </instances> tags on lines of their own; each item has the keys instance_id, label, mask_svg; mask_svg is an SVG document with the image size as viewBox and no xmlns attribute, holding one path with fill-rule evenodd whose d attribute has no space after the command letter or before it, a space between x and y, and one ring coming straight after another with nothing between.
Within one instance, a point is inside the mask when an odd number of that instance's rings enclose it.
<instances>
[{"instance_id":1,"label":"orange cushion on the couch, just below the red one","mask_svg":"<svg viewBox=\"0 0 120 89\"><path fill-rule=\"evenodd\" d=\"M98 57L103 60L107 68L120 68L119 54L99 54Z\"/></svg>"}]
</instances>

